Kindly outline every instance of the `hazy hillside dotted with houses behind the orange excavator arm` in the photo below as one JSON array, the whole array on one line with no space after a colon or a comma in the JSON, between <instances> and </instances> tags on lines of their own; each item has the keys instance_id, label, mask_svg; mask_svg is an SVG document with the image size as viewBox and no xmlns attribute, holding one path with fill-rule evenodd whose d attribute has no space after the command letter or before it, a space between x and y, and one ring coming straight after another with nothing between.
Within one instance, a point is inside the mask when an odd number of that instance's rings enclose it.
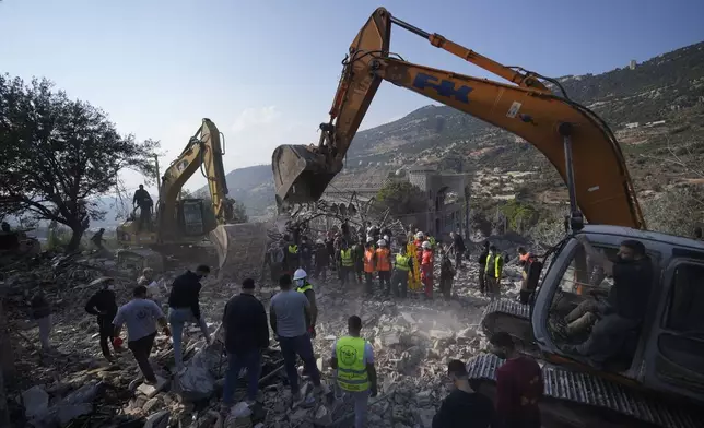
<instances>
[{"instance_id":1,"label":"hazy hillside dotted with houses behind the orange excavator arm","mask_svg":"<svg viewBox=\"0 0 704 428\"><path fill-rule=\"evenodd\" d=\"M673 163L662 165L662 156L688 154L689 162L699 164L704 159L704 43L660 55L634 70L558 80L567 96L599 114L617 133L638 190L682 179L681 168ZM626 128L626 123L661 120L666 122L657 127ZM369 163L399 167L433 163L454 171L497 168L496 174L540 170L539 178L521 180L520 186L530 185L532 198L561 198L563 190L558 174L532 146L446 106L426 106L357 133L348 154L347 174L363 173ZM250 215L263 214L273 203L268 165L235 169L227 175L227 183Z\"/></svg>"}]
</instances>

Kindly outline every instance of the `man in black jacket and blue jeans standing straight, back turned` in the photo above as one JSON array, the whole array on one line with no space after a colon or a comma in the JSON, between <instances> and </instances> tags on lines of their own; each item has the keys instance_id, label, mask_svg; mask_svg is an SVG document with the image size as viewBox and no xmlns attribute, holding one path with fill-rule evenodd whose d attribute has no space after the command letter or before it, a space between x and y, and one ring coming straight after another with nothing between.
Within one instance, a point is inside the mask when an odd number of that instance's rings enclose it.
<instances>
[{"instance_id":1,"label":"man in black jacket and blue jeans standing straight, back turned","mask_svg":"<svg viewBox=\"0 0 704 428\"><path fill-rule=\"evenodd\" d=\"M247 368L247 404L251 405L257 400L261 350L269 347L269 325L265 307L254 293L255 281L247 278L242 283L242 294L225 305L222 325L228 366L223 390L224 412L234 403L237 378L243 367Z\"/></svg>"}]
</instances>

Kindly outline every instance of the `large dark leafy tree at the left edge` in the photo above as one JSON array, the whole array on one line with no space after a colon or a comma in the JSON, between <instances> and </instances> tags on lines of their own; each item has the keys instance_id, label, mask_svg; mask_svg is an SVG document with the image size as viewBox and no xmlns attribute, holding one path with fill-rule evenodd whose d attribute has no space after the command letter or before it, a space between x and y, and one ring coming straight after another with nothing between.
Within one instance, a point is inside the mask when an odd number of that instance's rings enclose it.
<instances>
[{"instance_id":1,"label":"large dark leafy tree at the left edge","mask_svg":"<svg viewBox=\"0 0 704 428\"><path fill-rule=\"evenodd\" d=\"M0 210L69 227L68 251L91 219L104 218L94 198L116 189L121 170L154 175L157 146L120 135L103 110L46 79L0 75Z\"/></svg>"}]
</instances>

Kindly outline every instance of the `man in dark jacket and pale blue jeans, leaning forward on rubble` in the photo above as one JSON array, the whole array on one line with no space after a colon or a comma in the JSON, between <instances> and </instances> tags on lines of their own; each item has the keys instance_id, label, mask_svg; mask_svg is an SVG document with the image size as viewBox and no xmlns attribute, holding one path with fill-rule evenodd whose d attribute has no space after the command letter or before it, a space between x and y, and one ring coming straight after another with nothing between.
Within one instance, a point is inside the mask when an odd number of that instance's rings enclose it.
<instances>
[{"instance_id":1,"label":"man in dark jacket and pale blue jeans, leaning forward on rubble","mask_svg":"<svg viewBox=\"0 0 704 428\"><path fill-rule=\"evenodd\" d=\"M210 333L208 332L208 324L200 316L200 280L208 276L210 268L201 264L196 269L196 272L186 271L180 276L177 276L172 284L172 293L168 296L168 323L172 326L172 334L174 340L174 360L176 361L176 370L180 371L184 368L184 360L180 350L184 325L187 322L195 322L200 326L200 331L206 336L206 342L210 344Z\"/></svg>"}]
</instances>

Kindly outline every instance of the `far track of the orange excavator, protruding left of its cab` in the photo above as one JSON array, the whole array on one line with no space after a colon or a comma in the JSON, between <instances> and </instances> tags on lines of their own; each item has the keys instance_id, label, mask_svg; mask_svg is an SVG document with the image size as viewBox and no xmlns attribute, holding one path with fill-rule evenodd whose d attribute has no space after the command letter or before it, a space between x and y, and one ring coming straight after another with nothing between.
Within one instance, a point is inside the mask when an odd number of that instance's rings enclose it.
<instances>
[{"instance_id":1,"label":"far track of the orange excavator, protruding left of its cab","mask_svg":"<svg viewBox=\"0 0 704 428\"><path fill-rule=\"evenodd\" d=\"M532 337L528 305L509 299L494 300L484 308L481 328L488 336L496 331L511 334L521 354L540 355Z\"/></svg>"}]
</instances>

